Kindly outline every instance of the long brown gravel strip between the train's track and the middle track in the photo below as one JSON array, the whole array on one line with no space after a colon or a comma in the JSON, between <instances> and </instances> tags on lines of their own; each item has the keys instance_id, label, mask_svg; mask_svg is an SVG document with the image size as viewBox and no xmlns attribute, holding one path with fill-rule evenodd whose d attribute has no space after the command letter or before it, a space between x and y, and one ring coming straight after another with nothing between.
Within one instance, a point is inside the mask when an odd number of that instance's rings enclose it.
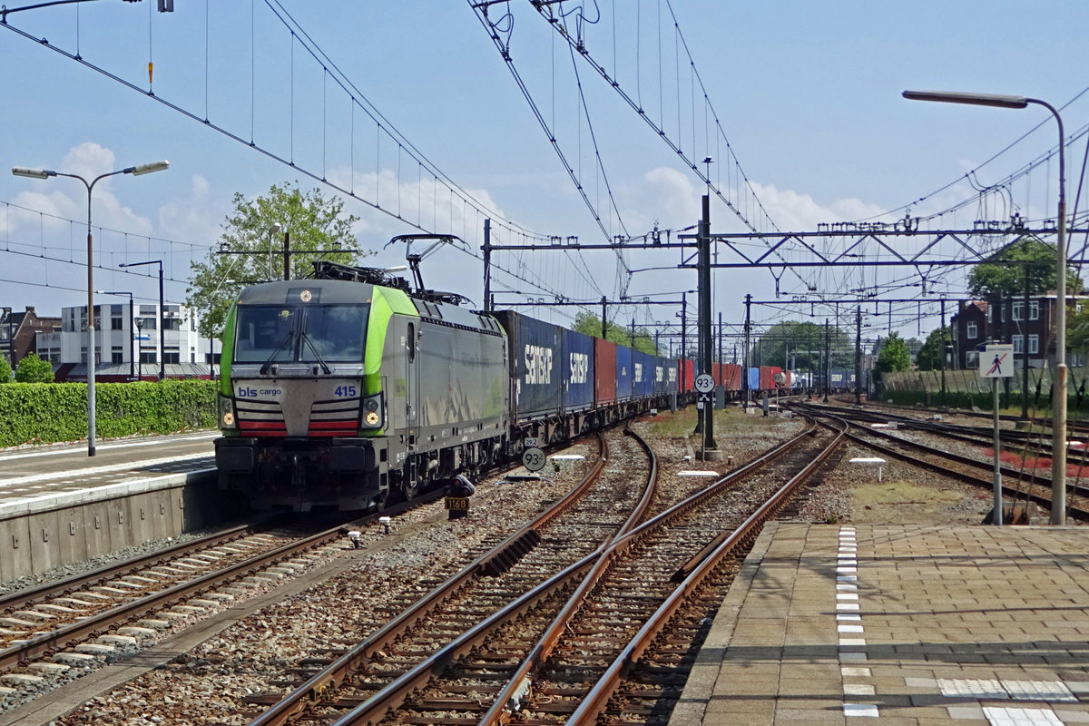
<instances>
[{"instance_id":1,"label":"long brown gravel strip between the train's track and the middle track","mask_svg":"<svg viewBox=\"0 0 1089 726\"><path fill-rule=\"evenodd\" d=\"M596 458L586 444L564 453L583 454L586 459L558 462L541 472L546 478L538 482L501 483L500 478L481 482L467 518L446 521L440 502L397 517L389 537L379 527L371 528L363 541L365 546L377 545L376 551L340 575L265 607L54 723L249 723L250 717L238 713L238 699L279 690L268 682L270 677L282 677L302 659L362 640L566 493ZM348 546L345 543L345 554L353 552Z\"/></svg>"}]
</instances>

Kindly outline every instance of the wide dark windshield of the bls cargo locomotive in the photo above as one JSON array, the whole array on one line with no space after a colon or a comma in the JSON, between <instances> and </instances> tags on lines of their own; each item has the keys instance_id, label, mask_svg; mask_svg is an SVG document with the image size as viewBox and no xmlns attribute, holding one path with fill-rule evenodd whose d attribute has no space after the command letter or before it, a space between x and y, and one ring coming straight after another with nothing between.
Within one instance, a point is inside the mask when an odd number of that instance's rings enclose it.
<instances>
[{"instance_id":1,"label":"wide dark windshield of the bls cargo locomotive","mask_svg":"<svg viewBox=\"0 0 1089 726\"><path fill-rule=\"evenodd\" d=\"M362 362L369 305L240 305L234 361Z\"/></svg>"}]
</instances>

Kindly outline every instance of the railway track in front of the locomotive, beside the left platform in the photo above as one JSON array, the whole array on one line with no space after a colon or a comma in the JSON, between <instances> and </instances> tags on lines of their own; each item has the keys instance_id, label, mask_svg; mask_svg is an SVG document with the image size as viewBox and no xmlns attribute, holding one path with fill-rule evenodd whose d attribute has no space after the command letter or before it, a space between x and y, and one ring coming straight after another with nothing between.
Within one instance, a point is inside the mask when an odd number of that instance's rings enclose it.
<instances>
[{"instance_id":1,"label":"railway track in front of the locomotive, beside the left platform","mask_svg":"<svg viewBox=\"0 0 1089 726\"><path fill-rule=\"evenodd\" d=\"M395 516L439 493L392 507ZM364 517L356 526L377 521ZM37 687L134 652L157 631L193 622L237 594L306 570L310 553L343 541L343 527L243 525L0 599L0 674ZM328 522L327 522L328 524Z\"/></svg>"}]
</instances>

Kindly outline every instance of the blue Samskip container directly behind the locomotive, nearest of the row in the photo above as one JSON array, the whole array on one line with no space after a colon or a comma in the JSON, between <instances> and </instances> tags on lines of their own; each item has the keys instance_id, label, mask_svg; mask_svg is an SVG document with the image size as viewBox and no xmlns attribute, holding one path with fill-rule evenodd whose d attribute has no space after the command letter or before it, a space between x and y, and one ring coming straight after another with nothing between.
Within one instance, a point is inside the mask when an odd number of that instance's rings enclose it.
<instances>
[{"instance_id":1,"label":"blue Samskip container directly behind the locomotive, nearest of the row","mask_svg":"<svg viewBox=\"0 0 1089 726\"><path fill-rule=\"evenodd\" d=\"M563 329L513 310L495 319L506 329L516 421L531 421L560 411L563 403Z\"/></svg>"}]
</instances>

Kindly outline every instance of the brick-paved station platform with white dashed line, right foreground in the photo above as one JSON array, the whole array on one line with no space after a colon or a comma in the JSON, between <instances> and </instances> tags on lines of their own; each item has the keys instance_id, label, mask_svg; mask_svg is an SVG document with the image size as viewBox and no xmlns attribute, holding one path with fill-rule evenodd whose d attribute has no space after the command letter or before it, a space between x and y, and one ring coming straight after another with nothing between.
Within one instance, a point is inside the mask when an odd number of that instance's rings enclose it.
<instances>
[{"instance_id":1,"label":"brick-paved station platform with white dashed line, right foreground","mask_svg":"<svg viewBox=\"0 0 1089 726\"><path fill-rule=\"evenodd\" d=\"M1089 528L769 525L671 726L1089 723Z\"/></svg>"}]
</instances>

